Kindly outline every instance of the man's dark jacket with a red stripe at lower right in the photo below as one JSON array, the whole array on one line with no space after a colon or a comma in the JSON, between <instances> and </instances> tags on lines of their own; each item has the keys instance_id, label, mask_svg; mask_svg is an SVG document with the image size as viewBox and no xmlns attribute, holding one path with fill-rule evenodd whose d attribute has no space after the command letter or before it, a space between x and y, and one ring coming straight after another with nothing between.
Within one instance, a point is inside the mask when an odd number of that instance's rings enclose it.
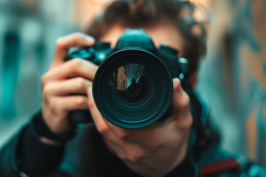
<instances>
[{"instance_id":1,"label":"man's dark jacket with a red stripe at lower right","mask_svg":"<svg viewBox=\"0 0 266 177\"><path fill-rule=\"evenodd\" d=\"M207 120L208 105L202 98L199 103L201 127L193 128L196 130L190 138L193 146L166 177L266 177L266 168L219 147L215 131ZM105 147L92 123L79 127L77 135L61 146L40 142L30 126L24 126L0 151L0 177L23 177L24 174L29 177L139 176Z\"/></svg>"}]
</instances>

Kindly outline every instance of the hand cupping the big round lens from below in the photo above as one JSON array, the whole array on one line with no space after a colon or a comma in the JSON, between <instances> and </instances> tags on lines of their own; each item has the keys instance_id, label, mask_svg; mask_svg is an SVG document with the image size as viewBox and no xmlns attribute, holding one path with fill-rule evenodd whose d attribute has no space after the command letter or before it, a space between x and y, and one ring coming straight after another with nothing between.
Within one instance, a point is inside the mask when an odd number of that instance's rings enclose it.
<instances>
[{"instance_id":1,"label":"hand cupping the big round lens from below","mask_svg":"<svg viewBox=\"0 0 266 177\"><path fill-rule=\"evenodd\" d=\"M138 174L163 176L185 158L192 125L190 100L179 79L173 79L173 85L171 118L140 129L120 128L105 120L95 105L91 88L88 89L89 109L103 141Z\"/></svg>"}]
</instances>

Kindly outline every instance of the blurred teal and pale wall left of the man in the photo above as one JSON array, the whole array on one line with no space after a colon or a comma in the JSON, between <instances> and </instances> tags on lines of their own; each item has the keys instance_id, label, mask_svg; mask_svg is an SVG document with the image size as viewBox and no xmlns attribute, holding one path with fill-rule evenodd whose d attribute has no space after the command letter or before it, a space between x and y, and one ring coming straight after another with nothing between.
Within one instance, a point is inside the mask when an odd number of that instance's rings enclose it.
<instances>
[{"instance_id":1,"label":"blurred teal and pale wall left of the man","mask_svg":"<svg viewBox=\"0 0 266 177\"><path fill-rule=\"evenodd\" d=\"M40 109L55 41L76 30L72 0L0 1L0 146Z\"/></svg>"}]
</instances>

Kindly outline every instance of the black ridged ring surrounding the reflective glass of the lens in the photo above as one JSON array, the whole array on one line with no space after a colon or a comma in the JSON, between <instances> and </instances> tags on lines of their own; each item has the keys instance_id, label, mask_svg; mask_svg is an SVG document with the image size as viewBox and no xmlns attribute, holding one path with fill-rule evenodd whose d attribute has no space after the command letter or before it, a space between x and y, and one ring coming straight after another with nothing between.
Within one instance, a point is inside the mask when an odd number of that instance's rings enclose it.
<instances>
[{"instance_id":1,"label":"black ridged ring surrounding the reflective glass of the lens","mask_svg":"<svg viewBox=\"0 0 266 177\"><path fill-rule=\"evenodd\" d=\"M150 91L148 86L145 96L150 94L152 100L143 108L125 109L129 107L116 104L117 98L110 92L108 86L110 77L106 76L111 76L115 69L127 63L146 65L153 73L151 78L154 79L156 90ZM147 84L151 85L152 79L148 81ZM123 128L145 127L161 118L170 106L172 89L172 80L165 64L151 52L135 47L125 48L110 55L100 65L93 81L93 96L101 115L109 122Z\"/></svg>"}]
</instances>

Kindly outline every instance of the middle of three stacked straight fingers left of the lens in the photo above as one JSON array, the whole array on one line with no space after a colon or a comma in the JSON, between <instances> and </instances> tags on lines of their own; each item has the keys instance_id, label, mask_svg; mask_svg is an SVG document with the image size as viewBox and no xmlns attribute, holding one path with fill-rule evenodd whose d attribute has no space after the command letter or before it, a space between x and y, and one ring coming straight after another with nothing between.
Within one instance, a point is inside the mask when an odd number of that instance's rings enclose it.
<instances>
[{"instance_id":1,"label":"middle of three stacked straight fingers left of the lens","mask_svg":"<svg viewBox=\"0 0 266 177\"><path fill-rule=\"evenodd\" d=\"M87 89L92 86L92 81L82 77L67 79L62 82L52 82L43 88L44 95L69 95L69 94L86 94Z\"/></svg>"}]
</instances>

